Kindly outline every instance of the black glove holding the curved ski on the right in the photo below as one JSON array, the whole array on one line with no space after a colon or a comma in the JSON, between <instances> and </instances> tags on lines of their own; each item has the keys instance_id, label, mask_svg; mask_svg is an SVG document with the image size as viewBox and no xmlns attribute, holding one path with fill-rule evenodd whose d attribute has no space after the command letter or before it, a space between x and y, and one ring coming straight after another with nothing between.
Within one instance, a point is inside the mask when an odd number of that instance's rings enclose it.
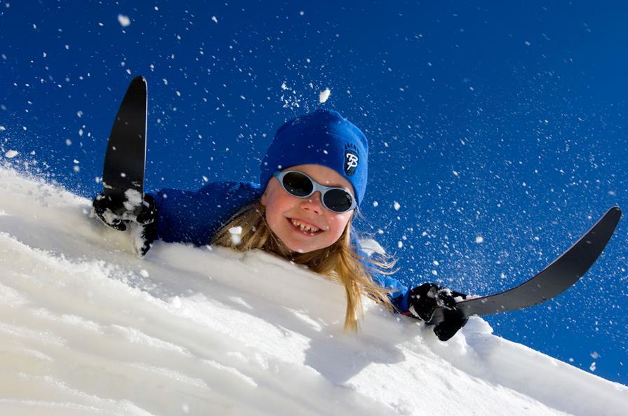
<instances>
[{"instance_id":1,"label":"black glove holding the curved ski on the right","mask_svg":"<svg viewBox=\"0 0 628 416\"><path fill-rule=\"evenodd\" d=\"M467 298L463 293L450 291L434 283L424 283L410 290L409 310L413 317L429 322L436 307L442 307L445 319L434 326L434 333L439 340L446 341L467 324L468 319L455 306L455 298L459 296Z\"/></svg>"}]
</instances>

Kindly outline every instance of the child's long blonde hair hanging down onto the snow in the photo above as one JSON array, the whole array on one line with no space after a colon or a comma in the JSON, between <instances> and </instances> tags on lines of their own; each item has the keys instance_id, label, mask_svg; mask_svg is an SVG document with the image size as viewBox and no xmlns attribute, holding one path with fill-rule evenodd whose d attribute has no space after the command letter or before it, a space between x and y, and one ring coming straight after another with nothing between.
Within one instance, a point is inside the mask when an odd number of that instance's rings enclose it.
<instances>
[{"instance_id":1,"label":"child's long blonde hair hanging down onto the snow","mask_svg":"<svg viewBox=\"0 0 628 416\"><path fill-rule=\"evenodd\" d=\"M374 261L356 253L351 244L351 221L337 242L329 247L295 253L290 251L270 230L266 222L266 207L261 202L255 202L240 209L213 237L212 244L232 247L239 251L260 249L286 258L294 263L305 265L309 270L317 272L329 279L340 282L345 286L347 296L347 311L345 312L345 331L357 331L358 318L363 312L362 295L366 294L375 302L385 305L389 310L394 307L389 300L389 290L373 282L364 263L369 264L375 272L389 275L388 270L394 266L394 261L383 258ZM241 227L239 241L235 240L229 229Z\"/></svg>"}]
</instances>

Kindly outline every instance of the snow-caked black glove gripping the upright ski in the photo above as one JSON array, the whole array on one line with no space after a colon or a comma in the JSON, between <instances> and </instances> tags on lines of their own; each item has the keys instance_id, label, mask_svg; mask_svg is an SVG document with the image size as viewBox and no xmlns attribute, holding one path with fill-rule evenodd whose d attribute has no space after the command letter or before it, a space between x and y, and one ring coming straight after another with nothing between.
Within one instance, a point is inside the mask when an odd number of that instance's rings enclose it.
<instances>
[{"instance_id":1,"label":"snow-caked black glove gripping the upright ski","mask_svg":"<svg viewBox=\"0 0 628 416\"><path fill-rule=\"evenodd\" d=\"M140 256L144 256L147 253L152 246L152 242L157 237L158 213L152 195L144 195L144 200L137 214L135 212L115 214L112 210L112 202L107 200L102 194L96 195L92 206L94 214L107 226L120 231L132 228L133 233L139 233L140 242L135 245L135 248Z\"/></svg>"}]
</instances>

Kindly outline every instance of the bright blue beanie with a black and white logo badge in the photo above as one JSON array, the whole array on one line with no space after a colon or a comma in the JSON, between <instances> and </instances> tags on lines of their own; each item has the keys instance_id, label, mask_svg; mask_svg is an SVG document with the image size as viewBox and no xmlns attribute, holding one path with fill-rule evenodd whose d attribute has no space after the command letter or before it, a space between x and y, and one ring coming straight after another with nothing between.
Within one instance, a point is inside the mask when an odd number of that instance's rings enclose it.
<instances>
[{"instance_id":1,"label":"bright blue beanie with a black and white logo badge","mask_svg":"<svg viewBox=\"0 0 628 416\"><path fill-rule=\"evenodd\" d=\"M260 185L265 189L277 170L309 164L334 169L352 184L356 202L362 202L368 143L363 132L338 111L317 109L279 127L262 160Z\"/></svg>"}]
</instances>

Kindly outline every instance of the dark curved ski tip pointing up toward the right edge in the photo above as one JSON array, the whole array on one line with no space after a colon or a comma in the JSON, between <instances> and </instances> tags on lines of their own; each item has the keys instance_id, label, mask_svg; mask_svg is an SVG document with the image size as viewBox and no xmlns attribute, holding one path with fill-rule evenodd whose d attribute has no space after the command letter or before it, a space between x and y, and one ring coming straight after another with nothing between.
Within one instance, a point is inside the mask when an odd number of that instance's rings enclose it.
<instances>
[{"instance_id":1,"label":"dark curved ski tip pointing up toward the right edge","mask_svg":"<svg viewBox=\"0 0 628 416\"><path fill-rule=\"evenodd\" d=\"M457 303L457 311L465 318L496 314L538 305L559 296L595 263L621 216L619 207L610 208L570 249L527 282L493 295L463 300ZM443 307L438 307L428 324L439 324L443 319Z\"/></svg>"}]
</instances>

